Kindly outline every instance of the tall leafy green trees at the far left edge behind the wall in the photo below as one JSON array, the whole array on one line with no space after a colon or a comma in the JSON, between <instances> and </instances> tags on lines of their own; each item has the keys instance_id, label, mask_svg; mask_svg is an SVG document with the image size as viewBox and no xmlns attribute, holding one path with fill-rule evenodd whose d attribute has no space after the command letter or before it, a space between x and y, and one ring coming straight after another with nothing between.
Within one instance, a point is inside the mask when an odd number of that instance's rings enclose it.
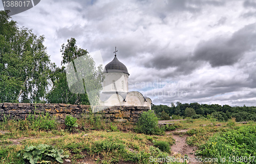
<instances>
[{"instance_id":1,"label":"tall leafy green trees at the far left edge behind the wall","mask_svg":"<svg viewBox=\"0 0 256 164\"><path fill-rule=\"evenodd\" d=\"M44 39L0 11L0 102L44 102L51 66Z\"/></svg>"}]
</instances>

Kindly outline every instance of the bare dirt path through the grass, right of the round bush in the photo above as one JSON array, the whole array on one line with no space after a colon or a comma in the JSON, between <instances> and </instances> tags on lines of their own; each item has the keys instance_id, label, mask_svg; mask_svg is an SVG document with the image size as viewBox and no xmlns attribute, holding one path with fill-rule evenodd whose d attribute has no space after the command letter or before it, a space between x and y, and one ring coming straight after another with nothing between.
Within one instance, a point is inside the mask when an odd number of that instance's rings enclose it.
<instances>
[{"instance_id":1,"label":"bare dirt path through the grass, right of the round bush","mask_svg":"<svg viewBox=\"0 0 256 164\"><path fill-rule=\"evenodd\" d=\"M185 135L188 129L183 130L175 130L175 131L166 131L166 134L172 134L175 139L175 144L172 146L172 154L173 156L178 156L181 154L184 156L185 154L189 157L188 163L195 164L197 162L193 162L193 158L196 158L195 152L197 147L190 147L186 143L186 138L188 135Z\"/></svg>"}]
</instances>

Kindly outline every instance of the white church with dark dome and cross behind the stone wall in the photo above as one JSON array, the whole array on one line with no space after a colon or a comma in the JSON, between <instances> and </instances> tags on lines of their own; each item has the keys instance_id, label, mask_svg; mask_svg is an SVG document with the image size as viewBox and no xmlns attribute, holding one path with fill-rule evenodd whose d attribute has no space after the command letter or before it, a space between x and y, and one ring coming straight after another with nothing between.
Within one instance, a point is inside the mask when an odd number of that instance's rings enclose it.
<instances>
[{"instance_id":1,"label":"white church with dark dome and cross behind the stone wall","mask_svg":"<svg viewBox=\"0 0 256 164\"><path fill-rule=\"evenodd\" d=\"M151 108L152 101L144 97L138 91L128 90L129 73L126 66L121 63L116 52L114 59L106 64L103 70L103 89L100 93L100 105L102 106L148 106Z\"/></svg>"}]
</instances>

